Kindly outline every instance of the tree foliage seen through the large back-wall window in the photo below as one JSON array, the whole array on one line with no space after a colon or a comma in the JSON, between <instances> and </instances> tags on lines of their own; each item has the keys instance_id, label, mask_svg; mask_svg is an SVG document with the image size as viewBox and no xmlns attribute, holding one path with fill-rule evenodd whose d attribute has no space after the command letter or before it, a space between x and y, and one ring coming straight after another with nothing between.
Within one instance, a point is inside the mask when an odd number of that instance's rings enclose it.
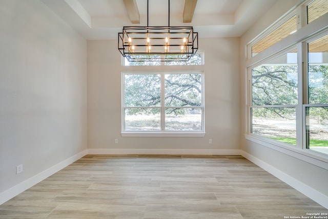
<instances>
[{"instance_id":1,"label":"tree foliage seen through the large back-wall window","mask_svg":"<svg viewBox=\"0 0 328 219\"><path fill-rule=\"evenodd\" d=\"M166 107L176 107L167 113L175 115L186 111L179 107L201 106L201 74L165 74L165 96L161 98L161 74L125 74L124 99L129 114L157 113L140 107L160 107L161 99Z\"/></svg>"}]
</instances>

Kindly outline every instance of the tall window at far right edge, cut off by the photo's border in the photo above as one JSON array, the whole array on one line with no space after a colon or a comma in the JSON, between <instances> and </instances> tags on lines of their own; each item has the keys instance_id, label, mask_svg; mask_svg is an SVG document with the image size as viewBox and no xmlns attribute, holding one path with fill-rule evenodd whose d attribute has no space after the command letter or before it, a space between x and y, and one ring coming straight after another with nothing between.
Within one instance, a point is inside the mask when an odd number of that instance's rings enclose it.
<instances>
[{"instance_id":1,"label":"tall window at far right edge, cut off by the photo's border","mask_svg":"<svg viewBox=\"0 0 328 219\"><path fill-rule=\"evenodd\" d=\"M306 148L328 154L328 34L308 43Z\"/></svg>"}]
</instances>

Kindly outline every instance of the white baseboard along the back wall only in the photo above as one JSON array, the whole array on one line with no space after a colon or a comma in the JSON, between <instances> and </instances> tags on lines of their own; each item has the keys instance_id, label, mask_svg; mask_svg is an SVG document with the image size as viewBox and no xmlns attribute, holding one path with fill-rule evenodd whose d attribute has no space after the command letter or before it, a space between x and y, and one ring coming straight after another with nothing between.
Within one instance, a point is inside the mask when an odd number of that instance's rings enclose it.
<instances>
[{"instance_id":1,"label":"white baseboard along the back wall only","mask_svg":"<svg viewBox=\"0 0 328 219\"><path fill-rule=\"evenodd\" d=\"M88 154L240 155L240 150L220 149L88 149Z\"/></svg>"}]
</instances>

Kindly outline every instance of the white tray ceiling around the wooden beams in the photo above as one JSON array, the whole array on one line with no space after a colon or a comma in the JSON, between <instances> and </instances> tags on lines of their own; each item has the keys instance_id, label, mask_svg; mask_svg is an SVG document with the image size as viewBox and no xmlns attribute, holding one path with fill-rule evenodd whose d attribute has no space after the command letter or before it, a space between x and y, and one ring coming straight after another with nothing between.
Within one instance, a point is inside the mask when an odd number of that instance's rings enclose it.
<instances>
[{"instance_id":1,"label":"white tray ceiling around the wooden beams","mask_svg":"<svg viewBox=\"0 0 328 219\"><path fill-rule=\"evenodd\" d=\"M278 0L198 0L192 23L182 23L185 0L170 1L170 26L193 26L199 37L238 37ZM147 26L147 0L136 0L132 24L123 0L42 0L86 39L116 39L123 26ZM169 0L149 0L149 26L168 26Z\"/></svg>"}]
</instances>

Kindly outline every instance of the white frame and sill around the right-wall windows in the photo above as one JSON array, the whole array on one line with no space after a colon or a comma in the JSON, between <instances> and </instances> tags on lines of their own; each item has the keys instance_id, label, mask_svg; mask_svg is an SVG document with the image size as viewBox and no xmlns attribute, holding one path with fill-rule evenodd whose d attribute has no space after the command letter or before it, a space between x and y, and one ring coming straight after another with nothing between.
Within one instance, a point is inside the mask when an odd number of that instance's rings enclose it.
<instances>
[{"instance_id":1,"label":"white frame and sill around the right-wall windows","mask_svg":"<svg viewBox=\"0 0 328 219\"><path fill-rule=\"evenodd\" d=\"M313 0L312 0L313 1ZM303 161L309 162L311 164L317 165L319 167L328 170L328 154L320 153L317 151L310 150L306 148L306 136L305 136L305 107L311 107L308 105L308 42L312 42L320 36L328 34L328 25L326 24L326 19L328 14L324 14L321 17L315 19L313 22L307 24L306 21L306 6L312 1L303 1L301 5L294 10L301 11L300 23L301 27L295 34L287 36L281 41L277 42L273 46L265 49L256 56L248 57L245 60L246 72L248 74L248 86L247 89L247 116L246 116L246 127L245 127L245 138L249 141L261 144L263 146L272 148L274 150L283 152L285 154L292 155L294 157L300 158ZM304 9L305 8L305 9ZM278 19L278 21L283 21L283 18ZM267 28L267 29L270 29ZM255 38L252 42L256 42ZM245 49L249 52L249 46L247 44ZM297 145L296 147L290 144L285 144L277 140L272 140L268 137L260 136L251 133L251 106L252 106L252 68L263 64L265 61L273 59L279 56L283 52L290 51L291 48L296 47L298 51L298 105L296 108L297 118L296 118L296 129L297 129ZM317 106L317 105L316 105ZM323 106L323 105L321 105ZM325 106L325 105L324 105ZM295 153L296 152L296 153Z\"/></svg>"}]
</instances>

